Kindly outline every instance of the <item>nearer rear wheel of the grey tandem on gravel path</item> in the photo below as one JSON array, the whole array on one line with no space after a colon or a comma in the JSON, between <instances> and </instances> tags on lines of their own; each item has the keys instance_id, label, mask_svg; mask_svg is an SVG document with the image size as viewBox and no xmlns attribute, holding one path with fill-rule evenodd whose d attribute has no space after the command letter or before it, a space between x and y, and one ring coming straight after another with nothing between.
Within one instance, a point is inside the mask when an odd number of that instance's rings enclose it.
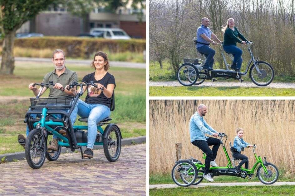
<instances>
[{"instance_id":1,"label":"nearer rear wheel of the grey tandem on gravel path","mask_svg":"<svg viewBox=\"0 0 295 196\"><path fill-rule=\"evenodd\" d=\"M177 70L177 80L183 86L192 86L198 80L198 77L198 69L190 63L184 63Z\"/></svg>"}]
</instances>

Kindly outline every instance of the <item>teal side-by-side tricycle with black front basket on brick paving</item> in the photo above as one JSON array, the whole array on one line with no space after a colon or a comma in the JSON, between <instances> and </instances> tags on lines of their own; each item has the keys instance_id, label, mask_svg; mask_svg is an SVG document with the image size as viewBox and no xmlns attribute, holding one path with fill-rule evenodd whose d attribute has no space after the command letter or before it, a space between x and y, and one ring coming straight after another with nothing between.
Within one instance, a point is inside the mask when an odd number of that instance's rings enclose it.
<instances>
[{"instance_id":1,"label":"teal side-by-side tricycle with black front basket on brick paving","mask_svg":"<svg viewBox=\"0 0 295 196\"><path fill-rule=\"evenodd\" d=\"M41 90L46 85L53 85L50 81L47 84L41 83L34 85L41 86ZM60 98L39 98L40 93L36 98L30 98L31 106L25 116L24 123L27 123L30 133L25 143L26 160L33 169L42 167L45 158L49 161L56 161L61 153L61 147L69 148L72 152L80 149L83 159L82 146L87 146L87 125L72 126L70 115L79 98L83 94L83 86L91 85L97 87L94 82L90 83L72 83L68 89L80 86L80 91L73 97ZM63 90L63 89L61 89ZM111 111L115 109L114 93L111 97ZM34 118L31 114L37 114ZM79 119L81 122L87 122L87 118ZM108 161L116 161L121 152L121 132L116 124L108 123L111 118L106 118L97 123L97 136L94 145L102 145L105 156ZM103 129L102 126L107 126ZM59 129L66 131L66 134L60 134ZM83 131L83 130L86 130ZM57 151L47 150L47 145L50 145L52 136L58 138ZM90 158L89 158L90 159Z\"/></svg>"}]
</instances>

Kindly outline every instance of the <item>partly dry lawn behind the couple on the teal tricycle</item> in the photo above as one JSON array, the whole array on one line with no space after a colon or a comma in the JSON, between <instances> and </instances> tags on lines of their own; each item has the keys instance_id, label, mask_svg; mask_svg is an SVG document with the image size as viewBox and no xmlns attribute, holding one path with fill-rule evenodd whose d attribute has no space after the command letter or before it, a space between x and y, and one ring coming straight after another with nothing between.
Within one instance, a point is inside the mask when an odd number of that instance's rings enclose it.
<instances>
[{"instance_id":1,"label":"partly dry lawn behind the couple on the teal tricycle","mask_svg":"<svg viewBox=\"0 0 295 196\"><path fill-rule=\"evenodd\" d=\"M94 72L89 65L66 64L66 67L76 71L79 80ZM0 154L24 150L17 142L17 135L26 134L23 120L29 108L29 97L34 97L28 84L41 83L44 75L53 69L52 63L16 62L14 75L0 78L4 84L0 86ZM116 109L111 112L111 122L118 124L123 138L145 136L145 69L111 67L109 72L116 79ZM47 97L48 93L47 90L42 97ZM81 99L85 97L86 93Z\"/></svg>"}]
</instances>

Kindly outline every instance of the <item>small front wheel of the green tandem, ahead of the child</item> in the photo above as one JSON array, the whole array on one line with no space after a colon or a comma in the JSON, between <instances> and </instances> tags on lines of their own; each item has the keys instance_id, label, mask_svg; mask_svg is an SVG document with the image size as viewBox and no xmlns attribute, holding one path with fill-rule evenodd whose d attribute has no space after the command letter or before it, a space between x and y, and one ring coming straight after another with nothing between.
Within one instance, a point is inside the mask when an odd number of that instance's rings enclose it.
<instances>
[{"instance_id":1,"label":"small front wheel of the green tandem, ahead of the child","mask_svg":"<svg viewBox=\"0 0 295 196\"><path fill-rule=\"evenodd\" d=\"M279 175L278 168L275 165L268 163L268 166L266 166L266 170L268 174L265 173L262 165L258 167L257 175L260 182L262 182L263 184L275 183L278 180L278 175Z\"/></svg>"}]
</instances>

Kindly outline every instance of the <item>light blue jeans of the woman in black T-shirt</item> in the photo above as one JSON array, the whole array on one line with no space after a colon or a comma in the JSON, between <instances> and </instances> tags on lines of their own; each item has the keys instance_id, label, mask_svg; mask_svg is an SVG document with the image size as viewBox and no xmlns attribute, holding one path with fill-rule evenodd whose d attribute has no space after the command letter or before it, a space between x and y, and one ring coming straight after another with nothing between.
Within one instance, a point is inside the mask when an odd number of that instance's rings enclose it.
<instances>
[{"instance_id":1,"label":"light blue jeans of the woman in black T-shirt","mask_svg":"<svg viewBox=\"0 0 295 196\"><path fill-rule=\"evenodd\" d=\"M79 116L88 118L87 148L93 149L97 135L97 123L109 117L111 115L111 110L106 105L87 104L80 99L78 100L76 108L78 109L77 113Z\"/></svg>"}]
</instances>

